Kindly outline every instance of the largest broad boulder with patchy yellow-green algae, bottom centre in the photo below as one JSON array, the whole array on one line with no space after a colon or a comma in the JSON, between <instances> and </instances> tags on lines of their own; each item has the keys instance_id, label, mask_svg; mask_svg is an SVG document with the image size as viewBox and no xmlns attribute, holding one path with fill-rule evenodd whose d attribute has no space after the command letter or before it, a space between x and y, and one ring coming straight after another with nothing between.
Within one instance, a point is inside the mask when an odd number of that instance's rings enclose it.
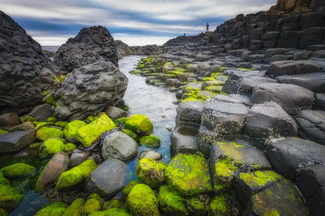
<instances>
[{"instance_id":1,"label":"largest broad boulder with patchy yellow-green algae, bottom centre","mask_svg":"<svg viewBox=\"0 0 325 216\"><path fill-rule=\"evenodd\" d=\"M209 165L197 154L178 154L165 170L167 183L182 195L195 195L212 190Z\"/></svg>"}]
</instances>

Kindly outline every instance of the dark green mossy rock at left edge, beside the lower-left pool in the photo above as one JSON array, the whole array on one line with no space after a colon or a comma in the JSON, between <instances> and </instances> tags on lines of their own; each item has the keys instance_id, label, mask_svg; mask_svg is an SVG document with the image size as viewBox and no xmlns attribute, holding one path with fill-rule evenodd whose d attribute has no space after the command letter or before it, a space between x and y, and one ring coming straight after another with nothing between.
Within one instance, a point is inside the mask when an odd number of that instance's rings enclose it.
<instances>
[{"instance_id":1,"label":"dark green mossy rock at left edge, beside the lower-left pool","mask_svg":"<svg viewBox=\"0 0 325 216\"><path fill-rule=\"evenodd\" d=\"M0 185L0 208L13 210L19 205L23 197L23 195L10 185Z\"/></svg>"}]
</instances>

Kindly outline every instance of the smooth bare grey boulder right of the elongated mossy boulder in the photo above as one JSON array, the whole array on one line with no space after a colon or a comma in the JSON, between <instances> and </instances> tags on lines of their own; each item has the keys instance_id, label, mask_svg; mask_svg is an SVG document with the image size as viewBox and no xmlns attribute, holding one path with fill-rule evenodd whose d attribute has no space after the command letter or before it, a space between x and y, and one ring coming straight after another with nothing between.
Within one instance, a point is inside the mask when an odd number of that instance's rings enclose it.
<instances>
[{"instance_id":1,"label":"smooth bare grey boulder right of the elongated mossy boulder","mask_svg":"<svg viewBox=\"0 0 325 216\"><path fill-rule=\"evenodd\" d=\"M124 162L106 160L89 175L87 190L102 197L110 197L124 187L125 176Z\"/></svg>"}]
</instances>

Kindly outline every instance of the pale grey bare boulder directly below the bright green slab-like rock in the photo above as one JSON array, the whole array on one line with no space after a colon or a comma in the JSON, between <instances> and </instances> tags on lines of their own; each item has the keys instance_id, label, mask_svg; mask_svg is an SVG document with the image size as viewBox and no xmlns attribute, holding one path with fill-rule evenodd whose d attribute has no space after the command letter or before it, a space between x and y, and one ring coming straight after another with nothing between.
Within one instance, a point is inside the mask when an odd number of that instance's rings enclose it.
<instances>
[{"instance_id":1,"label":"pale grey bare boulder directly below the bright green slab-like rock","mask_svg":"<svg viewBox=\"0 0 325 216\"><path fill-rule=\"evenodd\" d=\"M137 154L138 144L130 136L117 131L105 136L101 148L104 160L119 159L128 160Z\"/></svg>"}]
</instances>

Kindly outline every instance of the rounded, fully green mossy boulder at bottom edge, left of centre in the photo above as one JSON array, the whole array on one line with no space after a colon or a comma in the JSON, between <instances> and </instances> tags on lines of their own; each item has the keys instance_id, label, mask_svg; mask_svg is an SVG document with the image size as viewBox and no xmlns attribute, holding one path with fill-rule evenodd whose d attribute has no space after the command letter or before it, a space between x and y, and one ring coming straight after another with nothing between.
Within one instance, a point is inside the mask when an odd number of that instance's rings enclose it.
<instances>
[{"instance_id":1,"label":"rounded, fully green mossy boulder at bottom edge, left of centre","mask_svg":"<svg viewBox=\"0 0 325 216\"><path fill-rule=\"evenodd\" d=\"M147 185L135 185L129 193L127 205L133 216L160 216L158 199Z\"/></svg>"}]
</instances>

